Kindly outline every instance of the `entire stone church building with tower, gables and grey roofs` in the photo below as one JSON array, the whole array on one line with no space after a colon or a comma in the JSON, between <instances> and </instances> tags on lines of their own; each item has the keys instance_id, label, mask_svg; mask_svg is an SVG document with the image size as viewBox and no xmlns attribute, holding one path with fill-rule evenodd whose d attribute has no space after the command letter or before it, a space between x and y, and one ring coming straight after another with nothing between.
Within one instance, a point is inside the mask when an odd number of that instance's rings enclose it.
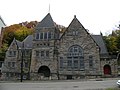
<instances>
[{"instance_id":1,"label":"entire stone church building with tower, gables and grey roofs","mask_svg":"<svg viewBox=\"0 0 120 90\"><path fill-rule=\"evenodd\" d=\"M117 62L107 52L103 37L91 35L74 16L61 32L48 13L33 35L9 46L2 79L83 79L117 75Z\"/></svg>"}]
</instances>

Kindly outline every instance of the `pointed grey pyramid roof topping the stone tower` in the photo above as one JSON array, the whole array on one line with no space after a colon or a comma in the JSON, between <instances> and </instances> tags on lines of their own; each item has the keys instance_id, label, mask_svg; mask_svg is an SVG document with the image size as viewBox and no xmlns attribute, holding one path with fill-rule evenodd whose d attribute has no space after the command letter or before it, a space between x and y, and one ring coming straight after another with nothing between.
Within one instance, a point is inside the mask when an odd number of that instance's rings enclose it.
<instances>
[{"instance_id":1,"label":"pointed grey pyramid roof topping the stone tower","mask_svg":"<svg viewBox=\"0 0 120 90\"><path fill-rule=\"evenodd\" d=\"M39 28L45 28L45 27L55 27L55 23L50 15L50 13L48 13L41 22L38 23L38 25L36 26L36 29Z\"/></svg>"}]
</instances>

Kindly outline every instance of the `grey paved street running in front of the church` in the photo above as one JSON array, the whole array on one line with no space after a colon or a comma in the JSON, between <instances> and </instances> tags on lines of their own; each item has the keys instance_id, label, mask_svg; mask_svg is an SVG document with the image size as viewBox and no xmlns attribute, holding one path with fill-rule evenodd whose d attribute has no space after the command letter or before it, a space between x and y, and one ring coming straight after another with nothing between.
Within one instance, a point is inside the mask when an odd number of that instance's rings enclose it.
<instances>
[{"instance_id":1,"label":"grey paved street running in front of the church","mask_svg":"<svg viewBox=\"0 0 120 90\"><path fill-rule=\"evenodd\" d=\"M117 80L66 80L66 81L36 81L0 83L0 90L103 90L117 87Z\"/></svg>"}]
</instances>

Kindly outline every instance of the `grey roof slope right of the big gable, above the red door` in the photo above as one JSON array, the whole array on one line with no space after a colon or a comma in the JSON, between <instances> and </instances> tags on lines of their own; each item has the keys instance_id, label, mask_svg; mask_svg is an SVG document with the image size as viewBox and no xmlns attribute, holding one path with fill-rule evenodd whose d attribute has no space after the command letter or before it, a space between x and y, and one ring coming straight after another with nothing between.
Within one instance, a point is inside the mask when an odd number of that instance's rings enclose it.
<instances>
[{"instance_id":1,"label":"grey roof slope right of the big gable, above the red door","mask_svg":"<svg viewBox=\"0 0 120 90\"><path fill-rule=\"evenodd\" d=\"M101 35L91 35L95 42L100 47L100 54L108 54L105 42Z\"/></svg>"}]
</instances>

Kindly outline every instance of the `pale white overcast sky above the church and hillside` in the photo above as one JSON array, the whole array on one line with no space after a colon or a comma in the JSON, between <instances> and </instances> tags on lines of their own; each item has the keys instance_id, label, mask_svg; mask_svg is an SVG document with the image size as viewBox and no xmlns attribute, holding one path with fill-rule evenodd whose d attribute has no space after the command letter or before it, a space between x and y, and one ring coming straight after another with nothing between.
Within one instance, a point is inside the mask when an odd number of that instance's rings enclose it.
<instances>
[{"instance_id":1,"label":"pale white overcast sky above the church and hillside","mask_svg":"<svg viewBox=\"0 0 120 90\"><path fill-rule=\"evenodd\" d=\"M90 33L111 33L120 23L120 0L0 0L0 15L9 26L41 21L49 12L53 20L68 26L74 15Z\"/></svg>"}]
</instances>

